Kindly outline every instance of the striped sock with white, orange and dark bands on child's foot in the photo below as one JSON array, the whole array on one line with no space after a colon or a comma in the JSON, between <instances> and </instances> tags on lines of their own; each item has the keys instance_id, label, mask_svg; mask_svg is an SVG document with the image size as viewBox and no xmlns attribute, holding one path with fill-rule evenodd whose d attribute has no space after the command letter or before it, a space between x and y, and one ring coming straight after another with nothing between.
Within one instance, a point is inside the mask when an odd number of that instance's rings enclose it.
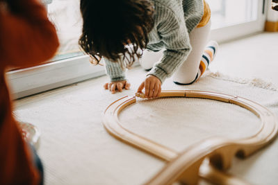
<instances>
[{"instance_id":1,"label":"striped sock with white, orange and dark bands on child's foot","mask_svg":"<svg viewBox=\"0 0 278 185\"><path fill-rule=\"evenodd\" d=\"M206 71L208 65L215 58L217 51L218 51L218 43L215 41L208 42L206 48L204 49L201 62L199 64L199 70L196 76L196 80L198 80L204 74L204 71Z\"/></svg>"}]
</instances>

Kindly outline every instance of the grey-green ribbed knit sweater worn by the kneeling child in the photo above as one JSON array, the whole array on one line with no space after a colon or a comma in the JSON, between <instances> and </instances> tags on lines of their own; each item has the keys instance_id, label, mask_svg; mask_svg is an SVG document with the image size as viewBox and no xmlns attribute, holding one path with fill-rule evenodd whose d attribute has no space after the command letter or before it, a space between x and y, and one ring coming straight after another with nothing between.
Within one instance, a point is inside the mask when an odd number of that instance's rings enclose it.
<instances>
[{"instance_id":1,"label":"grey-green ribbed knit sweater worn by the kneeling child","mask_svg":"<svg viewBox=\"0 0 278 185\"><path fill-rule=\"evenodd\" d=\"M156 62L147 76L156 76L164 82L186 60L191 46L189 33L199 24L204 14L203 0L152 0L154 28L149 33L147 49L165 49L161 61ZM105 59L106 73L111 82L125 80L124 70L118 62Z\"/></svg>"}]
</instances>

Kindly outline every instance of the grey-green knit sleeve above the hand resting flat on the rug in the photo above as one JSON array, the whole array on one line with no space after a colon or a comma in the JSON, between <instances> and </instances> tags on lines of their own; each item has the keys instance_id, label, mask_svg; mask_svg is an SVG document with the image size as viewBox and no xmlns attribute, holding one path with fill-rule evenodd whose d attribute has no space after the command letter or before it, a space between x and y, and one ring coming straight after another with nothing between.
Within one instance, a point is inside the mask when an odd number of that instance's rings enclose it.
<instances>
[{"instance_id":1,"label":"grey-green knit sleeve above the hand resting flat on the rug","mask_svg":"<svg viewBox=\"0 0 278 185\"><path fill-rule=\"evenodd\" d=\"M125 71L122 69L120 62L111 62L104 58L106 74L110 77L111 82L126 80Z\"/></svg>"}]
</instances>

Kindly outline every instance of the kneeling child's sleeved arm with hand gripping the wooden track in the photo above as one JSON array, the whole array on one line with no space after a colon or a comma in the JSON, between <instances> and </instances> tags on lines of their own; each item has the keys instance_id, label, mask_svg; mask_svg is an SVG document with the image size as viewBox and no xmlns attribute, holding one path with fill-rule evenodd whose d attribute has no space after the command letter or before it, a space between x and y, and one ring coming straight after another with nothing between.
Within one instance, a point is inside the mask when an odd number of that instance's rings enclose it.
<instances>
[{"instance_id":1,"label":"kneeling child's sleeved arm with hand gripping the wooden track","mask_svg":"<svg viewBox=\"0 0 278 185\"><path fill-rule=\"evenodd\" d=\"M145 95L148 98L155 98L161 92L161 84L166 78L178 69L188 57L191 46L183 16L177 16L175 12L164 8L164 15L157 15L158 33L161 37L166 51L160 62L156 62L147 78L138 88L138 92L145 88ZM152 50L151 47L149 47Z\"/></svg>"}]
</instances>

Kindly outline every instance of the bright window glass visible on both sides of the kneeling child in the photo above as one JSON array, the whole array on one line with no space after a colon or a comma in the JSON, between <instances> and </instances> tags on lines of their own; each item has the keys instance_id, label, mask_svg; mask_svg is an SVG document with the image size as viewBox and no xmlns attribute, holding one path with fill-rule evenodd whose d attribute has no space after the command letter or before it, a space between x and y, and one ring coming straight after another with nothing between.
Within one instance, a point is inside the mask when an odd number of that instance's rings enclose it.
<instances>
[{"instance_id":1,"label":"bright window glass visible on both sides of the kneeling child","mask_svg":"<svg viewBox=\"0 0 278 185\"><path fill-rule=\"evenodd\" d=\"M80 0L44 0L49 19L54 22L60 49L55 60L83 55L78 39L81 35L82 19ZM259 0L206 0L211 7L212 28L242 24L257 18Z\"/></svg>"}]
</instances>

